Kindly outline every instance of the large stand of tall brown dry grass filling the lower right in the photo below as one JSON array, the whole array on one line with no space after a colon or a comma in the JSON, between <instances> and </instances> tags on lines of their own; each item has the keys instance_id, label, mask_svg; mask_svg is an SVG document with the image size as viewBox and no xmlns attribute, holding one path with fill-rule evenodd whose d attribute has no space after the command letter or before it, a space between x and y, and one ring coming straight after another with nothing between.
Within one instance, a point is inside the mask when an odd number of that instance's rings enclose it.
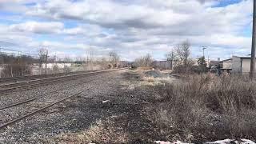
<instances>
[{"instance_id":1,"label":"large stand of tall brown dry grass filling the lower right","mask_svg":"<svg viewBox=\"0 0 256 144\"><path fill-rule=\"evenodd\" d=\"M150 119L166 139L256 139L256 82L238 76L192 75L166 85Z\"/></svg>"}]
</instances>

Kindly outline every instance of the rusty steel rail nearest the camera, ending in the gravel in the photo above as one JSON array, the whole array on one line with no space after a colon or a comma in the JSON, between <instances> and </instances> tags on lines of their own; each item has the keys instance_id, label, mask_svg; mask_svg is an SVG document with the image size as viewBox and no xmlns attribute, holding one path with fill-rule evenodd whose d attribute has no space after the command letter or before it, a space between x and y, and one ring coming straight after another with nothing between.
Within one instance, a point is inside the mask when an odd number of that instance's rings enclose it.
<instances>
[{"instance_id":1,"label":"rusty steel rail nearest the camera, ending in the gravel","mask_svg":"<svg viewBox=\"0 0 256 144\"><path fill-rule=\"evenodd\" d=\"M34 111L34 112L31 112L31 113L29 113L29 114L23 115L22 117L15 118L14 120L11 120L10 122L6 122L6 123L2 124L2 126L0 126L0 130L3 129L3 128L5 128L6 126L10 126L10 125L14 124L15 122L19 122L19 121L21 121L21 120L24 119L24 118L30 117L31 115L34 115L34 114L37 114L37 113L41 112L42 110L46 110L46 109L49 108L50 106L54 106L54 105L58 104L59 102L63 102L63 101L65 101L66 99L72 98L72 97L77 96L78 94L81 94L81 93L82 93L82 91L80 91L80 92L78 92L78 93L76 93L76 94L70 95L69 97L62 98L62 99L59 100L58 102L51 103L50 105L44 106L44 107L42 107L41 109L36 110L36 111Z\"/></svg>"}]
</instances>

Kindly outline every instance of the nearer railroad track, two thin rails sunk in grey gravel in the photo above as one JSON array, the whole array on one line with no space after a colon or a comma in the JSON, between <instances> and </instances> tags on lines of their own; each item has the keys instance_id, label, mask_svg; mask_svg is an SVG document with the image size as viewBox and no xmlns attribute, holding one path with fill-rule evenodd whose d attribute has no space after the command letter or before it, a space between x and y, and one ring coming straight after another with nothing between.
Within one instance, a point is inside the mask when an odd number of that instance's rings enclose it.
<instances>
[{"instance_id":1,"label":"nearer railroad track, two thin rails sunk in grey gravel","mask_svg":"<svg viewBox=\"0 0 256 144\"><path fill-rule=\"evenodd\" d=\"M111 72L114 72L114 70L108 70L108 71L110 72L109 76L110 76L111 74L113 74L113 73L111 73ZM102 76L102 75L98 75L98 77L101 77L101 76ZM93 78L93 76L91 76L91 78ZM94 80L95 80L95 79L91 79L91 80L86 81L86 82L90 82L90 81L94 81ZM96 79L96 80L97 80L97 79ZM78 82L78 83L75 83L74 85L79 85L79 86L81 86L82 83L86 83L86 82ZM72 86L74 86L74 85L72 85ZM69 87L72 87L72 86L69 86ZM66 89L66 87L62 87L61 89L54 90L54 91L50 92L50 94L57 93L58 91L61 91L61 90L63 90L63 89ZM32 112L30 111L29 113L23 114L22 116L20 116L20 117L18 117L18 118L13 118L13 119L10 120L9 122L4 122L2 125L0 125L0 130L6 128L6 126L10 126L10 125L12 125L12 124L14 124L14 123L16 123L16 122L19 122L19 121L25 119L25 118L28 118L28 117L30 117L30 116L32 116L32 115L34 115L34 114L38 114L38 113L41 112L42 110L46 110L46 109L50 108L51 106L57 105L57 104L60 103L60 102L64 102L64 101L67 100L67 99L74 98L74 97L78 96L79 94L81 94L82 92L83 92L83 90L78 90L77 93L75 93L75 94L70 94L69 96L66 96L65 98L62 98L61 100L52 102L52 103L50 103L50 104L48 104L48 105L46 105L46 106L38 106L38 109L37 109L37 110L34 110L34 111L32 111ZM37 99L39 99L39 98L43 98L43 97L45 97L45 96L47 96L47 95L49 95L49 94L43 94L43 95L40 95L40 96L38 96L38 97L30 98L30 99L27 99L27 100L22 101L22 102L16 102L16 103L14 103L14 104L10 104L9 106L4 106L4 107L0 108L0 110L5 110L5 109L8 109L8 108L10 108L10 107L19 106L19 105L22 105L22 104L26 104L26 103L28 103L28 102L33 102L34 100L37 100ZM45 103L46 103L46 102L45 102Z\"/></svg>"}]
</instances>

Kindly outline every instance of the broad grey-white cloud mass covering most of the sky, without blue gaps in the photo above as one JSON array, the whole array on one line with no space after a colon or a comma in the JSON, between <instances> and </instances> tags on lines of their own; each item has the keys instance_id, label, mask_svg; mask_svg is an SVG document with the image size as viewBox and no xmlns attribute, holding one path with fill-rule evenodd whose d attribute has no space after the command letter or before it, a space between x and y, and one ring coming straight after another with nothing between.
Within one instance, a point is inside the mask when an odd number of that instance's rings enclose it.
<instances>
[{"instance_id":1,"label":"broad grey-white cloud mass covering most of the sky, without blue gaps","mask_svg":"<svg viewBox=\"0 0 256 144\"><path fill-rule=\"evenodd\" d=\"M13 0L23 7L24 2ZM23 32L28 38L33 34L54 34L73 43L116 50L129 59L143 54L142 51L165 53L186 38L192 43L194 53L198 53L202 45L209 46L214 57L216 50L222 57L230 55L228 51L245 53L250 47L250 38L243 30L251 23L252 0L214 7L217 4L215 0L39 1L22 9L24 17L47 22L13 24L8 34ZM75 22L77 26L66 28L66 21ZM65 45L70 49L79 47ZM55 45L58 46L65 47Z\"/></svg>"}]
</instances>

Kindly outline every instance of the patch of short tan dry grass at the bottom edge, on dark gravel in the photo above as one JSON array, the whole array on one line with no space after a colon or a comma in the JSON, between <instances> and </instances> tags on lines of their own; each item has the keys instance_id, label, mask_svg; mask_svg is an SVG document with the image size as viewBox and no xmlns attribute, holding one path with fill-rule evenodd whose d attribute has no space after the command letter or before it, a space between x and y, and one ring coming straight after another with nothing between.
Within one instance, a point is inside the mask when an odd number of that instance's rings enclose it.
<instances>
[{"instance_id":1,"label":"patch of short tan dry grass at the bottom edge, on dark gravel","mask_svg":"<svg viewBox=\"0 0 256 144\"><path fill-rule=\"evenodd\" d=\"M122 129L118 129L114 126L110 119L102 122L97 121L94 125L91 125L88 130L83 130L79 133L59 134L55 138L46 140L46 142L58 142L58 143L127 143L129 139Z\"/></svg>"}]
</instances>

